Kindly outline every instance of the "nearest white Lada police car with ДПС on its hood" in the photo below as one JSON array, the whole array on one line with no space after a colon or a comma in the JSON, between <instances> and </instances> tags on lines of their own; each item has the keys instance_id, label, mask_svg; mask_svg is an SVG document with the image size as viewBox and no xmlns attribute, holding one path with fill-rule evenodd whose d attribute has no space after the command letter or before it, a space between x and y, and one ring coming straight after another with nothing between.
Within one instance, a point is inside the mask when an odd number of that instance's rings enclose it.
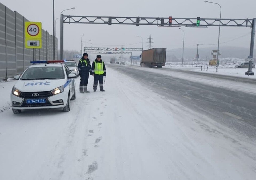
<instances>
[{"instance_id":1,"label":"nearest white Lada police car with \u0414\u041f\u0421 on its hood","mask_svg":"<svg viewBox=\"0 0 256 180\"><path fill-rule=\"evenodd\" d=\"M75 100L75 74L64 61L31 61L11 91L14 114L22 109L63 108L70 111L70 100ZM38 64L41 63L41 64ZM44 63L44 64L42 64Z\"/></svg>"}]
</instances>

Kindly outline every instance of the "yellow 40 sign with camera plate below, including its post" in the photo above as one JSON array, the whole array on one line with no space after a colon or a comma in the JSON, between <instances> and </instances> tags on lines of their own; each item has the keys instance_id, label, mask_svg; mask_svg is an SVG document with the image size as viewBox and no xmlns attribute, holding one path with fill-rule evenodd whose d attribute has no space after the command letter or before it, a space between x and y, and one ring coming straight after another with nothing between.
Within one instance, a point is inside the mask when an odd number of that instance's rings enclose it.
<instances>
[{"instance_id":1,"label":"yellow 40 sign with camera plate below, including its post","mask_svg":"<svg viewBox=\"0 0 256 180\"><path fill-rule=\"evenodd\" d=\"M42 23L25 22L25 48L33 49L33 61L35 61L35 48L42 48Z\"/></svg>"}]
</instances>

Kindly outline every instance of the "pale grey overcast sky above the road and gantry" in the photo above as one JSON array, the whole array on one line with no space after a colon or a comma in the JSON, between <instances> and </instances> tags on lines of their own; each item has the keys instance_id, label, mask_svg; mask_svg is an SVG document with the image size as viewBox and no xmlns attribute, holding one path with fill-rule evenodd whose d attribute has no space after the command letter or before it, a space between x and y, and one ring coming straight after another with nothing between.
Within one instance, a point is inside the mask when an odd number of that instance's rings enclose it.
<instances>
[{"instance_id":1,"label":"pale grey overcast sky above the road and gantry","mask_svg":"<svg viewBox=\"0 0 256 180\"><path fill-rule=\"evenodd\" d=\"M53 1L52 0L1 0L11 10L16 10L30 21L42 22L43 29L53 33ZM255 0L217 0L222 6L222 18L255 18ZM180 17L180 18L219 18L218 5L205 3L203 0L55 0L55 18L64 9L75 7L75 10L63 12L65 15L91 16L144 16L144 17ZM218 42L218 27L186 28L185 47ZM59 45L59 20L57 20L56 36ZM250 33L250 27L221 27L220 42L229 41ZM64 49L79 50L81 36L83 41L91 40L87 46L104 47L134 44L125 47L140 48L142 36L144 49L147 48L149 34L153 38L155 48L182 48L183 32L178 28L166 28L149 25L96 25L96 24L64 24ZM249 49L250 34L221 46L239 46ZM213 46L214 47L214 46ZM217 47L217 45L216 45ZM216 48L217 49L217 48Z\"/></svg>"}]
</instances>

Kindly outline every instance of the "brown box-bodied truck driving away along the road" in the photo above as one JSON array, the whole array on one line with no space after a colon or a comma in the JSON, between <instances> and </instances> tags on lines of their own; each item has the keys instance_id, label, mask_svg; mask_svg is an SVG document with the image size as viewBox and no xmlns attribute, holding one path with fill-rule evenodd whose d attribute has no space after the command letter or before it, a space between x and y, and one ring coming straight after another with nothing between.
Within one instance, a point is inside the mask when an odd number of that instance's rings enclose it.
<instances>
[{"instance_id":1,"label":"brown box-bodied truck driving away along the road","mask_svg":"<svg viewBox=\"0 0 256 180\"><path fill-rule=\"evenodd\" d=\"M166 48L153 48L142 51L141 66L162 68L165 66Z\"/></svg>"}]
</instances>

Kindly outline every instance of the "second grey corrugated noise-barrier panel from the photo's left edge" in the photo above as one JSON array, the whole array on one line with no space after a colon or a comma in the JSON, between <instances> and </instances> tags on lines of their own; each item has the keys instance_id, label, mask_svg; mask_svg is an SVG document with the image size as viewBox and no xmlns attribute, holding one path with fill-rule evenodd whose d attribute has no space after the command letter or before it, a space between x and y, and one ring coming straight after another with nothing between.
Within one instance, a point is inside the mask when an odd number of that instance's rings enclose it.
<instances>
[{"instance_id":1,"label":"second grey corrugated noise-barrier panel from the photo's left edge","mask_svg":"<svg viewBox=\"0 0 256 180\"><path fill-rule=\"evenodd\" d=\"M6 60L7 77L16 75L15 13L8 7L6 12Z\"/></svg>"}]
</instances>

